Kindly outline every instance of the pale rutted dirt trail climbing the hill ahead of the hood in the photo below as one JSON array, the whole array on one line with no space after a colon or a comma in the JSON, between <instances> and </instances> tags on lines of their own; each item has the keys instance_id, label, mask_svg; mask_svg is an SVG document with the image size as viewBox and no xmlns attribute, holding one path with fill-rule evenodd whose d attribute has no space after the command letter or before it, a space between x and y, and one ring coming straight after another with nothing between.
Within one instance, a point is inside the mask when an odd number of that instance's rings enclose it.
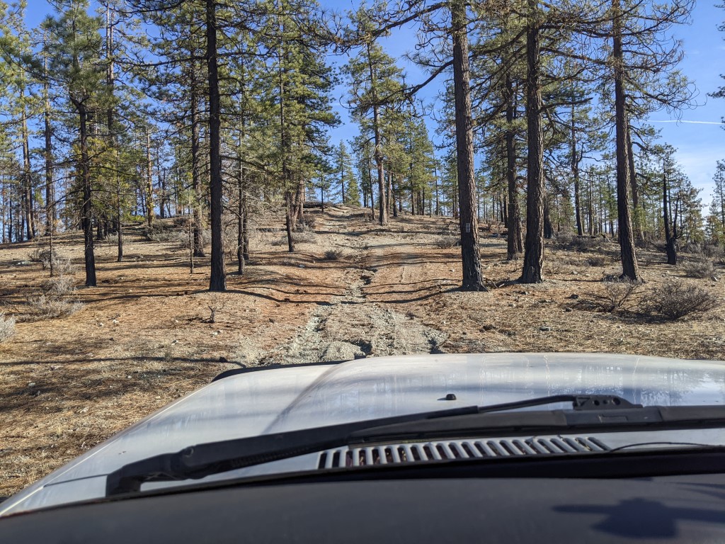
<instances>
[{"instance_id":1,"label":"pale rutted dirt trail climbing the hill ahead of the hood","mask_svg":"<svg viewBox=\"0 0 725 544\"><path fill-rule=\"evenodd\" d=\"M258 354L255 362L314 363L367 355L442 353L439 346L447 334L424 325L412 313L398 313L368 297L368 293L374 298L390 287L384 283L385 276L381 281L378 267L398 263L399 287L405 287L415 276L419 255L410 251L401 234L374 227L360 229L360 223L350 221L344 212L333 209L330 214L334 215L320 220L318 230L331 233L328 242L335 247L352 252L344 257L344 294L315 308L289 342Z\"/></svg>"}]
</instances>

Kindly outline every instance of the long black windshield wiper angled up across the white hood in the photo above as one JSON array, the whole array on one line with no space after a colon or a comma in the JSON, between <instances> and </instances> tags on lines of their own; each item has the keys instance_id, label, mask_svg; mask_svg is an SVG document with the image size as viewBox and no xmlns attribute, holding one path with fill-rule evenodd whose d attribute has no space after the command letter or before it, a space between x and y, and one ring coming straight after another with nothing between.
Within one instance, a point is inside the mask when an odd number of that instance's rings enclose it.
<instances>
[{"instance_id":1,"label":"long black windshield wiper angled up across the white hood","mask_svg":"<svg viewBox=\"0 0 725 544\"><path fill-rule=\"evenodd\" d=\"M530 408L554 403L571 403L575 411L604 411L616 408L642 408L616 395L551 395L513 403L489 406L466 406L452 410L414 413L384 419L356 421L299 431L262 434L222 442L208 442L184 448L176 453L163 453L135 461L111 472L106 480L106 496L141 490L144 482L170 482L200 479L212 474L241 469L281 459L337 448L364 440L365 431L411 422L423 422ZM523 414L522 414L523 416ZM556 424L554 419L549 424Z\"/></svg>"}]
</instances>

